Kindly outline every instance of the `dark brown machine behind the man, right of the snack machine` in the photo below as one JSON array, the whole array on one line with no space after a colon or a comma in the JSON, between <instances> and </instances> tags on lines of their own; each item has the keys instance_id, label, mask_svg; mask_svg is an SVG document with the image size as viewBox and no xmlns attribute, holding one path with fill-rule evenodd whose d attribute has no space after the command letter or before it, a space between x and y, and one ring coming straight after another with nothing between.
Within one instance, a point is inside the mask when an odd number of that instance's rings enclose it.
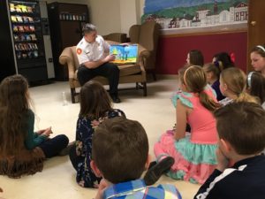
<instances>
[{"instance_id":1,"label":"dark brown machine behind the man, right of the snack machine","mask_svg":"<svg viewBox=\"0 0 265 199\"><path fill-rule=\"evenodd\" d=\"M68 80L68 68L60 65L65 47L75 46L82 39L82 24L88 22L86 4L48 4L49 29L57 80Z\"/></svg>"}]
</instances>

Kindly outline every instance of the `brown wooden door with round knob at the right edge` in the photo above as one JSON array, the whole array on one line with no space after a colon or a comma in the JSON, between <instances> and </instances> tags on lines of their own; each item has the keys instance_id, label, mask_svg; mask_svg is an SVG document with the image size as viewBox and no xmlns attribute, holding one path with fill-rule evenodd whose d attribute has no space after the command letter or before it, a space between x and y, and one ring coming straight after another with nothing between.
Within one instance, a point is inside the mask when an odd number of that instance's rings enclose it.
<instances>
[{"instance_id":1,"label":"brown wooden door with round knob at the right edge","mask_svg":"<svg viewBox=\"0 0 265 199\"><path fill-rule=\"evenodd\" d=\"M248 1L247 22L247 71L253 71L250 61L250 51L254 46L265 44L265 1Z\"/></svg>"}]
</instances>

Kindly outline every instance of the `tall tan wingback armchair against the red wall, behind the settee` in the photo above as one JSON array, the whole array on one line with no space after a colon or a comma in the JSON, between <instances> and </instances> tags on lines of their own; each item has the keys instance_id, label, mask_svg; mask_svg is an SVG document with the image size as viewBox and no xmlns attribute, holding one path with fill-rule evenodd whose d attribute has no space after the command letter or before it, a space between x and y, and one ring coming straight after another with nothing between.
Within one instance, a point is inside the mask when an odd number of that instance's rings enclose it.
<instances>
[{"instance_id":1,"label":"tall tan wingback armchair against the red wall, behind the settee","mask_svg":"<svg viewBox=\"0 0 265 199\"><path fill-rule=\"evenodd\" d=\"M133 25L129 30L130 42L138 43L148 50L143 61L146 71L153 74L154 80L156 80L155 57L160 28L155 21L146 21L142 25Z\"/></svg>"}]
</instances>

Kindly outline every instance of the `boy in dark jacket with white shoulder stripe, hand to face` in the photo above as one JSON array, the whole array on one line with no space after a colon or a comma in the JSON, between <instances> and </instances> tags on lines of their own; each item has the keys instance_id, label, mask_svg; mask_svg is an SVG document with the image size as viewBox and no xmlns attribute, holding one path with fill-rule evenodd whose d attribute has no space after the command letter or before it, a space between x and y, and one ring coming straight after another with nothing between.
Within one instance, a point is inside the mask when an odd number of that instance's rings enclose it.
<instances>
[{"instance_id":1,"label":"boy in dark jacket with white shoulder stripe, hand to face","mask_svg":"<svg viewBox=\"0 0 265 199\"><path fill-rule=\"evenodd\" d=\"M194 199L264 198L265 111L256 103L231 103L215 117L218 165Z\"/></svg>"}]
</instances>

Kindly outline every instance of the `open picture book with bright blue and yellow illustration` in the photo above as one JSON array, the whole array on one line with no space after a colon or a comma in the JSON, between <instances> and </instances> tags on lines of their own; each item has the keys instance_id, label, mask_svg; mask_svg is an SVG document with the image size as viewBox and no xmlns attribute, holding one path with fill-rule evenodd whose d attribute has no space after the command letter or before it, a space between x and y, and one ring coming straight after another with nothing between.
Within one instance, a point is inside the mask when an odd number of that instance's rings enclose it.
<instances>
[{"instance_id":1,"label":"open picture book with bright blue and yellow illustration","mask_svg":"<svg viewBox=\"0 0 265 199\"><path fill-rule=\"evenodd\" d=\"M138 56L138 45L110 45L110 54L115 55L116 64L136 63Z\"/></svg>"}]
</instances>

